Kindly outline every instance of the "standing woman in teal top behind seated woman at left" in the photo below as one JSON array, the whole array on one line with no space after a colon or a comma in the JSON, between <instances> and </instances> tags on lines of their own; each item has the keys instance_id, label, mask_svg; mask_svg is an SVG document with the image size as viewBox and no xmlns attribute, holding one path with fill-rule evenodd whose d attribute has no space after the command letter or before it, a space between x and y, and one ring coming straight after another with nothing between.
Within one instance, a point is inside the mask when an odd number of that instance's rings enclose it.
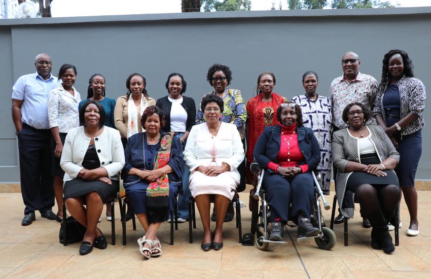
<instances>
[{"instance_id":1,"label":"standing woman in teal top behind seated woman at left","mask_svg":"<svg viewBox=\"0 0 431 279\"><path fill-rule=\"evenodd\" d=\"M82 105L88 100L98 101L106 113L105 126L116 129L114 124L115 100L105 97L105 78L100 74L94 74L90 77L88 83L87 99L79 103L79 109L81 109Z\"/></svg>"}]
</instances>

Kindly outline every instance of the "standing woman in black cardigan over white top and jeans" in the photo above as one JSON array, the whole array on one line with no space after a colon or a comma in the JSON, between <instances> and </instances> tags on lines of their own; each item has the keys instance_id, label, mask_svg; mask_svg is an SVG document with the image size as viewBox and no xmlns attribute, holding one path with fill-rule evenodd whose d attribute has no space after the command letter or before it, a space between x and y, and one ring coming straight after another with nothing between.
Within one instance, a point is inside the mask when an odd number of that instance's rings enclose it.
<instances>
[{"instance_id":1,"label":"standing woman in black cardigan over white top and jeans","mask_svg":"<svg viewBox=\"0 0 431 279\"><path fill-rule=\"evenodd\" d=\"M196 105L193 98L183 96L186 92L187 82L183 75L172 73L168 76L165 84L169 95L160 98L156 102L165 116L165 125L162 129L165 132L173 132L183 145L186 145L192 126L195 125ZM185 168L186 169L186 168ZM183 191L178 197L178 222L183 223L189 219L189 171L183 173Z\"/></svg>"}]
</instances>

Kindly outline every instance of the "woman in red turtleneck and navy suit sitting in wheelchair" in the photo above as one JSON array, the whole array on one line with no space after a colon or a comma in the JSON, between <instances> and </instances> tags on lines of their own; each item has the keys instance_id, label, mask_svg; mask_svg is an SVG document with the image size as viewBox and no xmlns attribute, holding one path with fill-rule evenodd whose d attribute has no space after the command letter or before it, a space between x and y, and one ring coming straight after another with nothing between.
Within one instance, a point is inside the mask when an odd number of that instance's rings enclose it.
<instances>
[{"instance_id":1,"label":"woman in red turtleneck and navy suit sitting in wheelchair","mask_svg":"<svg viewBox=\"0 0 431 279\"><path fill-rule=\"evenodd\" d=\"M295 102L282 103L277 119L277 125L265 127L254 151L266 169L262 185L271 208L269 240L282 241L288 219L298 224L298 238L315 236L319 229L310 222L314 198L310 171L320 161L319 144L313 130L303 126L301 108Z\"/></svg>"}]
</instances>

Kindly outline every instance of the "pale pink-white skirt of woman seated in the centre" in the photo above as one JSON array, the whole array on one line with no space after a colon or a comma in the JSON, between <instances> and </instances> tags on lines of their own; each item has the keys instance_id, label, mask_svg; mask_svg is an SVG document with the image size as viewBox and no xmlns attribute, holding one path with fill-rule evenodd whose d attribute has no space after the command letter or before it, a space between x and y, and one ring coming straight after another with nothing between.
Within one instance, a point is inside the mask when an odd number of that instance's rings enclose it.
<instances>
[{"instance_id":1,"label":"pale pink-white skirt of woman seated in the centre","mask_svg":"<svg viewBox=\"0 0 431 279\"><path fill-rule=\"evenodd\" d=\"M214 194L222 195L232 200L238 183L227 172L222 172L218 176L205 176L200 171L195 171L190 175L189 188L192 196Z\"/></svg>"}]
</instances>

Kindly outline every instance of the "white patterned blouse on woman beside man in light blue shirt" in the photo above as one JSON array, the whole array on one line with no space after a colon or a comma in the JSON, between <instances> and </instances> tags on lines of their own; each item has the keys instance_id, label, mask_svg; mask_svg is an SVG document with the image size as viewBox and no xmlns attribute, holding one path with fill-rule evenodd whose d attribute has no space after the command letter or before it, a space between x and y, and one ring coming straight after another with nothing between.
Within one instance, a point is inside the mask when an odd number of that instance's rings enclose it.
<instances>
[{"instance_id":1,"label":"white patterned blouse on woman beside man in light blue shirt","mask_svg":"<svg viewBox=\"0 0 431 279\"><path fill-rule=\"evenodd\" d=\"M79 103L81 95L72 87L74 95L70 94L60 84L52 89L48 95L49 128L58 127L60 133L67 133L69 129L79 126Z\"/></svg>"}]
</instances>

